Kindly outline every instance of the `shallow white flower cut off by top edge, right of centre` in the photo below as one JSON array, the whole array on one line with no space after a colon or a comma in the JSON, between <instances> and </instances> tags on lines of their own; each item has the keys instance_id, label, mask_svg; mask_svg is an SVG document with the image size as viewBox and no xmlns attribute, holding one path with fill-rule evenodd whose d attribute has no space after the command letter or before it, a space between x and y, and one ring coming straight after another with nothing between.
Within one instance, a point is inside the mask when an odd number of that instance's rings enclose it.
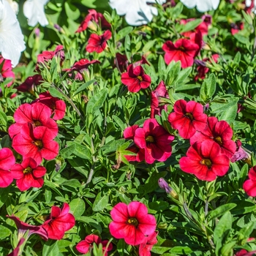
<instances>
[{"instance_id":1,"label":"shallow white flower cut off by top edge, right of centre","mask_svg":"<svg viewBox=\"0 0 256 256\"><path fill-rule=\"evenodd\" d=\"M217 10L219 6L219 0L181 0L181 3L189 9L196 7L199 12Z\"/></svg>"}]
</instances>

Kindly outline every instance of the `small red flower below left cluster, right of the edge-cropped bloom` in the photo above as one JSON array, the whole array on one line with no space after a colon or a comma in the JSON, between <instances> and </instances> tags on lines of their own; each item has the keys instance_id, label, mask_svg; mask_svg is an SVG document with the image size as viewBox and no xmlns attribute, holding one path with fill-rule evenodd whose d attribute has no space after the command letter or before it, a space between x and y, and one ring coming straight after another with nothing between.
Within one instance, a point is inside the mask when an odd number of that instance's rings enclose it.
<instances>
[{"instance_id":1,"label":"small red flower below left cluster, right of the edge-cropped bloom","mask_svg":"<svg viewBox=\"0 0 256 256\"><path fill-rule=\"evenodd\" d=\"M31 187L42 187L46 169L38 166L37 162L31 157L23 160L21 164L16 164L11 168L13 178L17 179L16 185L20 191L30 189Z\"/></svg>"}]
</instances>

